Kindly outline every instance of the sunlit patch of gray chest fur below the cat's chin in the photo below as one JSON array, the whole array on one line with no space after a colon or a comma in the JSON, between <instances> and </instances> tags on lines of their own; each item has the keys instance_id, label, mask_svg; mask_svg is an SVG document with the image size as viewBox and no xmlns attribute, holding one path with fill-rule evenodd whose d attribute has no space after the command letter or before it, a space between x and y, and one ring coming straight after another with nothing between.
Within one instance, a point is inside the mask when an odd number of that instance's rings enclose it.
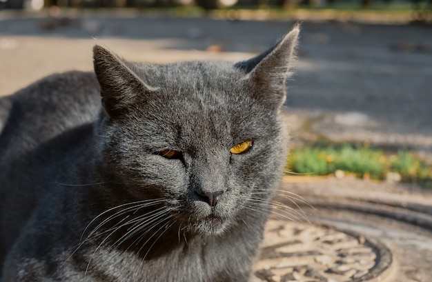
<instances>
[{"instance_id":1,"label":"sunlit patch of gray chest fur below the cat's chin","mask_svg":"<svg viewBox=\"0 0 432 282\"><path fill-rule=\"evenodd\" d=\"M100 281L229 281L238 273L248 272L250 254L231 246L182 245L159 257L146 260L134 254L98 251L98 263L90 266ZM108 279L108 277L110 279ZM124 280L124 277L128 277ZM96 280L99 281L99 280Z\"/></svg>"}]
</instances>

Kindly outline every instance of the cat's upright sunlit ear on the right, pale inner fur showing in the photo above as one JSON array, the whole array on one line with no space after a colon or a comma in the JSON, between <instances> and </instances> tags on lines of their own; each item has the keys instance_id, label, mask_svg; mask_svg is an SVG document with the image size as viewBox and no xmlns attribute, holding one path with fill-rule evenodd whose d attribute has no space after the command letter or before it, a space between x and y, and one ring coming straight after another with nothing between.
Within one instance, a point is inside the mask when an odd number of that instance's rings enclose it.
<instances>
[{"instance_id":1,"label":"cat's upright sunlit ear on the right, pale inner fur showing","mask_svg":"<svg viewBox=\"0 0 432 282\"><path fill-rule=\"evenodd\" d=\"M273 48L235 65L247 73L246 83L252 87L254 98L273 109L279 109L285 101L285 81L291 76L299 33L297 24Z\"/></svg>"}]
</instances>

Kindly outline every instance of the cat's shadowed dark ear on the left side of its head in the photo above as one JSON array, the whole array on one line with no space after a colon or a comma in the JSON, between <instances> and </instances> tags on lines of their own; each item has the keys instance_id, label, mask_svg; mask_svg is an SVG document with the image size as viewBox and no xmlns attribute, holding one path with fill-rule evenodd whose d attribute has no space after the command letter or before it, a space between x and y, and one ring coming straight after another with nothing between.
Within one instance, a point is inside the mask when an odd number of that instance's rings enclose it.
<instances>
[{"instance_id":1,"label":"cat's shadowed dark ear on the left side of its head","mask_svg":"<svg viewBox=\"0 0 432 282\"><path fill-rule=\"evenodd\" d=\"M93 66L101 86L102 105L110 119L128 112L139 97L156 89L146 85L126 61L102 46L93 48Z\"/></svg>"}]
</instances>

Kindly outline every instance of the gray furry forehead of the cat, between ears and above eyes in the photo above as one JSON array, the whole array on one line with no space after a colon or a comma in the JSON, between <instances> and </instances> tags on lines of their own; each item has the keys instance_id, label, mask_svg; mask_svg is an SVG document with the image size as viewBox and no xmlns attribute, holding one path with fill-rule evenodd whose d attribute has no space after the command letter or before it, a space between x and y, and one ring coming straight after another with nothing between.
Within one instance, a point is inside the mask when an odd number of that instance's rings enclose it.
<instances>
[{"instance_id":1,"label":"gray furry forehead of the cat, between ears and above eyes","mask_svg":"<svg viewBox=\"0 0 432 282\"><path fill-rule=\"evenodd\" d=\"M152 90L136 95L127 114L133 118L127 120L138 121L139 126L130 128L143 130L137 134L145 134L150 143L153 139L168 144L181 139L189 145L242 141L268 135L275 128L276 112L253 95L258 90L245 79L248 74L232 63L182 61L132 66Z\"/></svg>"}]
</instances>

